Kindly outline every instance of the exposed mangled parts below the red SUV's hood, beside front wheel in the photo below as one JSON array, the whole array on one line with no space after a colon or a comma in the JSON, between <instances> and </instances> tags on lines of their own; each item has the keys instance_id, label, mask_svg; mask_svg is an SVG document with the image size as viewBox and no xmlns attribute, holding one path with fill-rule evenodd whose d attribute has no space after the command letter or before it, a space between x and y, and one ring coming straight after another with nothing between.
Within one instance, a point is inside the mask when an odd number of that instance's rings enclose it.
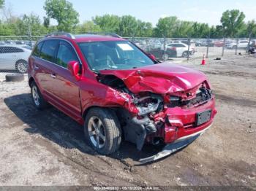
<instances>
[{"instance_id":1,"label":"exposed mangled parts below the red SUV's hood, beside front wheel","mask_svg":"<svg viewBox=\"0 0 256 191\"><path fill-rule=\"evenodd\" d=\"M150 91L132 93L122 79L111 74L99 74L98 81L119 93L129 95L129 101L137 109L137 114L132 115L127 110L119 109L118 115L121 119L121 126L124 128L125 139L135 143L138 149L142 149L146 136L152 134L155 136L154 139L150 140L151 143L159 143L161 137L159 136L159 139L156 139L157 132L166 122L164 112L166 108L196 107L205 104L212 98L211 90L206 82L202 82L200 85L186 91L157 94Z\"/></svg>"}]
</instances>

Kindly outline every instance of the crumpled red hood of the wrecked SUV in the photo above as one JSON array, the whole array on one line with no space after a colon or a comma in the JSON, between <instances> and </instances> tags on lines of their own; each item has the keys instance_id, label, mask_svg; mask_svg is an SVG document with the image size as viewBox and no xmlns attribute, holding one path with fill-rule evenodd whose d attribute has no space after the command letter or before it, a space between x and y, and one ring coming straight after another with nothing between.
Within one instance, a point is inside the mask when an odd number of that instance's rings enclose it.
<instances>
[{"instance_id":1,"label":"crumpled red hood of the wrecked SUV","mask_svg":"<svg viewBox=\"0 0 256 191\"><path fill-rule=\"evenodd\" d=\"M122 79L132 93L174 93L192 89L206 80L200 71L167 62L138 69L102 70L100 73Z\"/></svg>"}]
</instances>

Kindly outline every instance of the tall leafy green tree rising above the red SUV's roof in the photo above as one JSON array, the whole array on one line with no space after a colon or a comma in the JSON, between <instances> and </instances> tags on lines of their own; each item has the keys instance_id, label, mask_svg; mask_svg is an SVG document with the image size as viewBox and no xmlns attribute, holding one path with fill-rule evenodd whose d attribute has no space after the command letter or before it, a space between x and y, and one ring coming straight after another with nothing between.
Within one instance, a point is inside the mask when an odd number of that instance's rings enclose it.
<instances>
[{"instance_id":1,"label":"tall leafy green tree rising above the red SUV's roof","mask_svg":"<svg viewBox=\"0 0 256 191\"><path fill-rule=\"evenodd\" d=\"M79 14L69 1L46 0L44 9L48 17L57 20L59 31L71 31L79 22Z\"/></svg>"}]
</instances>

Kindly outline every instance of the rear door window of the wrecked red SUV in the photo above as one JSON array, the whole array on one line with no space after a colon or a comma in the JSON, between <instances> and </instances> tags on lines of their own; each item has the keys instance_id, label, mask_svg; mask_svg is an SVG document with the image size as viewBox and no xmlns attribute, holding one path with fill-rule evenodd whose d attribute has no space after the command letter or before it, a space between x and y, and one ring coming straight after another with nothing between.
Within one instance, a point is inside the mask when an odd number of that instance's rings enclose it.
<instances>
[{"instance_id":1,"label":"rear door window of the wrecked red SUV","mask_svg":"<svg viewBox=\"0 0 256 191\"><path fill-rule=\"evenodd\" d=\"M55 53L59 45L59 40L47 40L42 45L40 58L54 62Z\"/></svg>"}]
</instances>

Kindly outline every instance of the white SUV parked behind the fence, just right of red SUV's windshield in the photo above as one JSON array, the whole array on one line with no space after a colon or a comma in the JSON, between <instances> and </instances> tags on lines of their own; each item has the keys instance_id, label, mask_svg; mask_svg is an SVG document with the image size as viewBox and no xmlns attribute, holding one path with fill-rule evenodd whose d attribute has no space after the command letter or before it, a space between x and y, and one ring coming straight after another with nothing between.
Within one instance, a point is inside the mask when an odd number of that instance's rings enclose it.
<instances>
[{"instance_id":1,"label":"white SUV parked behind the fence, just right of red SUV's windshield","mask_svg":"<svg viewBox=\"0 0 256 191\"><path fill-rule=\"evenodd\" d=\"M176 51L176 57L187 57L188 53L189 55L193 55L195 52L195 50L192 47L189 47L187 44L181 42L167 44L165 48L166 50L170 49ZM163 46L162 50L164 50Z\"/></svg>"}]
</instances>

